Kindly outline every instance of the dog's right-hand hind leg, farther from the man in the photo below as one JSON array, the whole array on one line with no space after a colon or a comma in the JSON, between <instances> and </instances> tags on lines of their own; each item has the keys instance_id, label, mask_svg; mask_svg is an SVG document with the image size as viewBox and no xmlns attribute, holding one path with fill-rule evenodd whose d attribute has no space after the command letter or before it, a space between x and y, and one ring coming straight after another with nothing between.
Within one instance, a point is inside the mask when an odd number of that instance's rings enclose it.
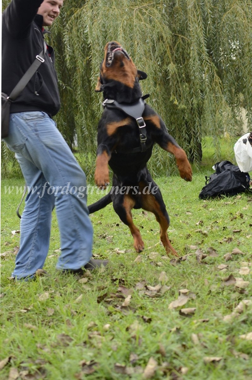
<instances>
[{"instance_id":1,"label":"dog's right-hand hind leg, farther from the man","mask_svg":"<svg viewBox=\"0 0 252 380\"><path fill-rule=\"evenodd\" d=\"M143 187L143 184L141 188ZM155 187L156 186L156 187ZM154 191L155 189L155 191ZM156 217L160 225L160 240L163 243L163 246L166 250L167 254L171 254L173 256L177 256L178 254L175 249L172 247L171 242L167 235L167 230L170 224L169 216L166 211L166 207L162 198L161 191L155 183L152 183L152 187L148 194L143 194L141 196L142 208L146 211L151 211Z\"/></svg>"}]
</instances>

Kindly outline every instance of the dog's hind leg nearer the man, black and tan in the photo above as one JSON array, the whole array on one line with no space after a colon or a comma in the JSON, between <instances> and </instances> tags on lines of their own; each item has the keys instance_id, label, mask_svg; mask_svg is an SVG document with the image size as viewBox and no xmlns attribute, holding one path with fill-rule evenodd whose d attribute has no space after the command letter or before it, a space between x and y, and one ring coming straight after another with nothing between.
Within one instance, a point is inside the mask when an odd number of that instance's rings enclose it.
<instances>
[{"instance_id":1,"label":"dog's hind leg nearer the man, black and tan","mask_svg":"<svg viewBox=\"0 0 252 380\"><path fill-rule=\"evenodd\" d=\"M117 195L113 201L113 207L121 221L128 225L134 239L134 248L137 252L144 250L144 242L139 229L133 223L131 210L135 206L135 201L129 195Z\"/></svg>"}]
</instances>

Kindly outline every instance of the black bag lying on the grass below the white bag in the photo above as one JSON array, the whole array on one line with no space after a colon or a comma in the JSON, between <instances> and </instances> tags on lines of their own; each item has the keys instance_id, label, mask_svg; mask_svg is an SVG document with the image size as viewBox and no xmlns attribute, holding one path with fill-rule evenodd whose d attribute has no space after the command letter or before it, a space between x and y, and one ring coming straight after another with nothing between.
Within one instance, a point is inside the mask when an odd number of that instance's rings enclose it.
<instances>
[{"instance_id":1,"label":"black bag lying on the grass below the white bag","mask_svg":"<svg viewBox=\"0 0 252 380\"><path fill-rule=\"evenodd\" d=\"M215 198L221 195L233 196L249 188L249 175L240 171L230 161L221 161L214 165L215 173L206 176L206 185L200 192L200 199ZM250 191L250 190L249 190Z\"/></svg>"}]
</instances>

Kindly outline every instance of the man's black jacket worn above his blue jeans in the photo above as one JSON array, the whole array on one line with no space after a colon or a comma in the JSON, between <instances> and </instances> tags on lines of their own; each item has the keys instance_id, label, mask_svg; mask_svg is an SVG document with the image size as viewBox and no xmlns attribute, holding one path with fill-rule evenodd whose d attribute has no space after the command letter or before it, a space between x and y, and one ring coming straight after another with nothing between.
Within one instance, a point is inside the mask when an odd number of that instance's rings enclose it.
<instances>
[{"instance_id":1,"label":"man's black jacket worn above his blue jeans","mask_svg":"<svg viewBox=\"0 0 252 380\"><path fill-rule=\"evenodd\" d=\"M10 95L43 49L43 16L37 15L43 0L12 0L2 18L2 92ZM54 51L47 45L41 63L11 112L43 111L55 115L60 107Z\"/></svg>"}]
</instances>

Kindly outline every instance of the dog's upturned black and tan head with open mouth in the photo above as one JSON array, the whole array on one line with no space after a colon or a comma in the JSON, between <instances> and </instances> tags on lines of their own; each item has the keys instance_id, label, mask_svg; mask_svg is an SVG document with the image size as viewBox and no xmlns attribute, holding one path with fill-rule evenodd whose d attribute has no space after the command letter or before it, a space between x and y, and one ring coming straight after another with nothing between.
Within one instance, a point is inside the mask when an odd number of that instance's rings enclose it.
<instances>
[{"instance_id":1,"label":"dog's upturned black and tan head with open mouth","mask_svg":"<svg viewBox=\"0 0 252 380\"><path fill-rule=\"evenodd\" d=\"M127 51L118 42L108 42L104 50L95 91L103 92L104 98L119 103L132 103L141 98L139 81L146 79L147 74L137 70Z\"/></svg>"}]
</instances>

